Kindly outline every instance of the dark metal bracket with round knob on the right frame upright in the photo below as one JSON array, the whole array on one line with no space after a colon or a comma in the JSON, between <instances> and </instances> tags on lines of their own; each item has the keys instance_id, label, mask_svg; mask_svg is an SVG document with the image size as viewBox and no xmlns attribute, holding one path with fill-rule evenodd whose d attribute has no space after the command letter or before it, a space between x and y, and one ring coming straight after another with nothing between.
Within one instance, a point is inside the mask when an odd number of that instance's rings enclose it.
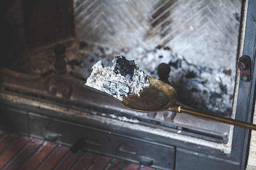
<instances>
[{"instance_id":1,"label":"dark metal bracket with round knob on the right frame upright","mask_svg":"<svg viewBox=\"0 0 256 170\"><path fill-rule=\"evenodd\" d=\"M250 57L243 55L239 58L237 67L240 69L240 77L242 81L251 80L251 59Z\"/></svg>"}]
</instances>

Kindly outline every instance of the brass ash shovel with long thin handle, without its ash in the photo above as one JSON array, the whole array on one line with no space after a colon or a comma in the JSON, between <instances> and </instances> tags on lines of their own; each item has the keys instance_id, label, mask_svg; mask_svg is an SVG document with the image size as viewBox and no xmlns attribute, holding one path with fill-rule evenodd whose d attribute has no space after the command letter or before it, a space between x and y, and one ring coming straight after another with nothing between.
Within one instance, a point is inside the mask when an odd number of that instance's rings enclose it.
<instances>
[{"instance_id":1,"label":"brass ash shovel with long thin handle, without its ash","mask_svg":"<svg viewBox=\"0 0 256 170\"><path fill-rule=\"evenodd\" d=\"M177 92L171 85L157 80L153 77L148 77L150 85L144 87L138 95L128 95L123 97L124 100L120 102L129 109L140 112L158 112L164 110L170 110L172 112L187 113L189 115L195 115L218 122L227 123L230 125L239 126L251 130L256 130L256 125L240 120L234 120L228 117L222 117L218 115L212 115L209 113L192 110L182 105L177 105Z\"/></svg>"}]
</instances>

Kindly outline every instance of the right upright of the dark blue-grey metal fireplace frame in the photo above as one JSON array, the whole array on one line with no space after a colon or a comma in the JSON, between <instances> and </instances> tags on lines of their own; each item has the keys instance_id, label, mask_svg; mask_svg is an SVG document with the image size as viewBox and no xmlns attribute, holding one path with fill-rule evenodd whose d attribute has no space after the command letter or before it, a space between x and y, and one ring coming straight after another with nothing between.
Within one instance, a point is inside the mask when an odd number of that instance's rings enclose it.
<instances>
[{"instance_id":1,"label":"right upright of the dark blue-grey metal fireplace frame","mask_svg":"<svg viewBox=\"0 0 256 170\"><path fill-rule=\"evenodd\" d=\"M245 1L246 4L246 1ZM251 81L239 80L238 100L236 106L236 119L252 122L255 106L255 83L256 83L256 1L248 0L246 17L246 29L243 45L243 54L251 59ZM250 143L251 130L234 128L232 153L230 159L241 161L240 169L246 168L248 158L248 147ZM242 138L242 140L241 140ZM235 149L236 148L236 149ZM239 149L240 148L240 149ZM240 157L241 155L241 157Z\"/></svg>"}]
</instances>

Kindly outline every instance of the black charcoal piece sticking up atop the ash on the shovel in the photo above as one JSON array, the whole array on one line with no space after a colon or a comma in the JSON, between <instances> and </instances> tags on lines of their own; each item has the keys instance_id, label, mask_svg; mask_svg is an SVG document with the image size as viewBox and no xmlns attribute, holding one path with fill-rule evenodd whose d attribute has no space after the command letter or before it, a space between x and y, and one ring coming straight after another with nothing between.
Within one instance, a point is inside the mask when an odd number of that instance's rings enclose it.
<instances>
[{"instance_id":1,"label":"black charcoal piece sticking up atop the ash on the shovel","mask_svg":"<svg viewBox=\"0 0 256 170\"><path fill-rule=\"evenodd\" d=\"M135 62L134 60L126 60L123 55L116 55L113 60L114 69L123 75L129 82L134 74Z\"/></svg>"}]
</instances>

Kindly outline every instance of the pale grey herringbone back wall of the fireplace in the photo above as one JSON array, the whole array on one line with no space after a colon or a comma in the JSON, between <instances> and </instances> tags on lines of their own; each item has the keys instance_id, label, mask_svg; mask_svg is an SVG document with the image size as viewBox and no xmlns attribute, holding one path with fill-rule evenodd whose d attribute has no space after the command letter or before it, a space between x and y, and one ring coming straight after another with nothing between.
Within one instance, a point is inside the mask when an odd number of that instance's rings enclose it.
<instances>
[{"instance_id":1,"label":"pale grey herringbone back wall of the fireplace","mask_svg":"<svg viewBox=\"0 0 256 170\"><path fill-rule=\"evenodd\" d=\"M76 37L107 47L159 44L190 62L235 70L241 0L74 0Z\"/></svg>"}]
</instances>

